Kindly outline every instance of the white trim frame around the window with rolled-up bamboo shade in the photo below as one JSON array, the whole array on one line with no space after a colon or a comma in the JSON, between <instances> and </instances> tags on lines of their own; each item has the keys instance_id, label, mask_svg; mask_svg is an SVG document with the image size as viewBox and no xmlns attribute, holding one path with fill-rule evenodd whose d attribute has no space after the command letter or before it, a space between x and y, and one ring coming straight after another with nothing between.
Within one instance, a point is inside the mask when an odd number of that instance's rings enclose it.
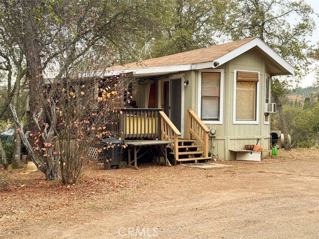
<instances>
[{"instance_id":1,"label":"white trim frame around the window with rolled-up bamboo shade","mask_svg":"<svg viewBox=\"0 0 319 239\"><path fill-rule=\"evenodd\" d=\"M257 72L258 73L258 82L257 82L257 96L256 96L256 120L237 120L236 119L236 86L237 86L237 71L246 71L246 70L234 70L234 92L233 92L233 124L259 124L259 83L260 83L260 72L259 71L248 71L248 72Z\"/></svg>"}]
</instances>

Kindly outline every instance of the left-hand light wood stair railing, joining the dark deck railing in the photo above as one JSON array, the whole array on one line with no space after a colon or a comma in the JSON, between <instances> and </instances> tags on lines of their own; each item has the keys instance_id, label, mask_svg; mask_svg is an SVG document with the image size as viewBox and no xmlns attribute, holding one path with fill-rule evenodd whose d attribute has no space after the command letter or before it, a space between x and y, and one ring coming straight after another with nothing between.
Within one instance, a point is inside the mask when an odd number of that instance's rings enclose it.
<instances>
[{"instance_id":1,"label":"left-hand light wood stair railing, joining the dark deck railing","mask_svg":"<svg viewBox=\"0 0 319 239\"><path fill-rule=\"evenodd\" d=\"M160 111L160 131L161 140L172 142L171 149L174 152L175 160L178 160L178 137L180 132L163 111Z\"/></svg>"}]
</instances>

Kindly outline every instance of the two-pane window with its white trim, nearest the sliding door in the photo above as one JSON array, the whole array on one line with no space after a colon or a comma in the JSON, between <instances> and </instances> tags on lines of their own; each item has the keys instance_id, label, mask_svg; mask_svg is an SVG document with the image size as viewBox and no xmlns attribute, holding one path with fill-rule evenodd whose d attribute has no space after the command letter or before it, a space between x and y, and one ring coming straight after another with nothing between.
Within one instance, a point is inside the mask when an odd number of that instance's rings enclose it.
<instances>
[{"instance_id":1,"label":"two-pane window with its white trim, nearest the sliding door","mask_svg":"<svg viewBox=\"0 0 319 239\"><path fill-rule=\"evenodd\" d=\"M223 70L199 71L198 115L205 123L222 123Z\"/></svg>"}]
</instances>

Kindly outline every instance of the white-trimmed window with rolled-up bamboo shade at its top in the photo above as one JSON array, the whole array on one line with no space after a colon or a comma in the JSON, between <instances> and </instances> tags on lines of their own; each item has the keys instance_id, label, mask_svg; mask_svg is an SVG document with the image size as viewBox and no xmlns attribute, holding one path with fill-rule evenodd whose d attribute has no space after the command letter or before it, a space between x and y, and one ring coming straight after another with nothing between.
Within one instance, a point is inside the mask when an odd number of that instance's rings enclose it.
<instances>
[{"instance_id":1,"label":"white-trimmed window with rolled-up bamboo shade at its top","mask_svg":"<svg viewBox=\"0 0 319 239\"><path fill-rule=\"evenodd\" d=\"M258 123L259 73L234 71L234 123Z\"/></svg>"}]
</instances>

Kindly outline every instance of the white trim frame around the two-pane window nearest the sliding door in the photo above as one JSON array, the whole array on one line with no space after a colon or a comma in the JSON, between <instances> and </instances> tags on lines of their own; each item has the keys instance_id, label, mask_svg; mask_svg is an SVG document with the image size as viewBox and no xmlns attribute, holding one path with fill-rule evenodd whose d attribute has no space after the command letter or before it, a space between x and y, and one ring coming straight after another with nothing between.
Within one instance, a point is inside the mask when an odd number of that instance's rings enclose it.
<instances>
[{"instance_id":1,"label":"white trim frame around the two-pane window nearest the sliding door","mask_svg":"<svg viewBox=\"0 0 319 239\"><path fill-rule=\"evenodd\" d=\"M197 100L197 115L201 119L201 73L219 72L220 73L220 98L219 98L219 120L202 120L205 124L223 124L224 115L224 70L223 69L204 69L198 71L198 100Z\"/></svg>"}]
</instances>

